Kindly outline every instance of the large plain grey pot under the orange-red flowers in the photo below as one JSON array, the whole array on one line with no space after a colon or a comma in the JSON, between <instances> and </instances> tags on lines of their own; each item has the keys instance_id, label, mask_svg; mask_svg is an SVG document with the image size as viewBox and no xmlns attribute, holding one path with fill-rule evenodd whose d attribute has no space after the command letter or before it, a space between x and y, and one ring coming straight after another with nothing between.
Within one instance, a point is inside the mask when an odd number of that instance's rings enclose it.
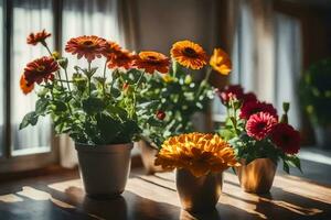
<instances>
[{"instance_id":1,"label":"large plain grey pot under the orange-red flowers","mask_svg":"<svg viewBox=\"0 0 331 220\"><path fill-rule=\"evenodd\" d=\"M79 174L87 196L114 198L126 187L129 177L132 144L75 144Z\"/></svg>"}]
</instances>

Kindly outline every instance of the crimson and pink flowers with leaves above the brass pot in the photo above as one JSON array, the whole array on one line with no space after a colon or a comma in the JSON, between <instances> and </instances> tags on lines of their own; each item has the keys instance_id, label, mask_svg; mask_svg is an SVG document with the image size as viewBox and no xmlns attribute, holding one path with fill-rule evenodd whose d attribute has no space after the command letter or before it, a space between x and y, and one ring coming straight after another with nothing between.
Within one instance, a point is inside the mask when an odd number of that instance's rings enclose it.
<instances>
[{"instance_id":1,"label":"crimson and pink flowers with leaves above the brass pot","mask_svg":"<svg viewBox=\"0 0 331 220\"><path fill-rule=\"evenodd\" d=\"M289 173L289 165L301 170L296 156L300 134L288 124L288 102L284 102L279 120L273 105L257 100L253 92L245 94L239 85L227 86L217 95L227 111L220 133L233 145L238 160L247 165L256 158L270 158L275 164L281 158L285 172Z\"/></svg>"}]
</instances>

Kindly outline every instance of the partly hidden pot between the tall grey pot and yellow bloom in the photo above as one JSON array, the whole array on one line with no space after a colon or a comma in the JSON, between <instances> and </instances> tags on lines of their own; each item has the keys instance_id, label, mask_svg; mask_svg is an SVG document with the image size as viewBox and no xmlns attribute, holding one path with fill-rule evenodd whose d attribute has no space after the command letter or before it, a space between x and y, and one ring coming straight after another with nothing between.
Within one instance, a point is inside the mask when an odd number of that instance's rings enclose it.
<instances>
[{"instance_id":1,"label":"partly hidden pot between the tall grey pot and yellow bloom","mask_svg":"<svg viewBox=\"0 0 331 220\"><path fill-rule=\"evenodd\" d=\"M154 173L164 172L162 166L154 165L158 150L156 147L151 146L150 143L148 143L147 141L143 141L143 140L139 141L137 144L141 152L141 161L142 161L143 167L146 169L146 173L154 174Z\"/></svg>"}]
</instances>

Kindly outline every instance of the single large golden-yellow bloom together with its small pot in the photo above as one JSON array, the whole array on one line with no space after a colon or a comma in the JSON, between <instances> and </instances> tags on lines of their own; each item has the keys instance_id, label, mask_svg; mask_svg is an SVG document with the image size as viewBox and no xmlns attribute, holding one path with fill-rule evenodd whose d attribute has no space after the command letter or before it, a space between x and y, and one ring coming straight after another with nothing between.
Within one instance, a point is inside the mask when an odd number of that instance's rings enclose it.
<instances>
[{"instance_id":1,"label":"single large golden-yellow bloom together with its small pot","mask_svg":"<svg viewBox=\"0 0 331 220\"><path fill-rule=\"evenodd\" d=\"M223 172L238 166L233 148L217 134L171 136L157 155L157 165L175 168L175 186L183 209L211 211L222 194Z\"/></svg>"}]
</instances>

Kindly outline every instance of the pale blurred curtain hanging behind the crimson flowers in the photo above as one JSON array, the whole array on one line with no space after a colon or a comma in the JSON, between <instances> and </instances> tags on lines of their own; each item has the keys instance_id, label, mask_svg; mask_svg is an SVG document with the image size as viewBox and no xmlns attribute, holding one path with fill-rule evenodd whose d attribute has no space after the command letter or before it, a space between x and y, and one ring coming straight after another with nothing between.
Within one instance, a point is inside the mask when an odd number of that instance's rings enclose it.
<instances>
[{"instance_id":1,"label":"pale blurred curtain hanging behind the crimson flowers","mask_svg":"<svg viewBox=\"0 0 331 220\"><path fill-rule=\"evenodd\" d=\"M231 81L274 103L279 113L282 101L291 102L290 123L299 128L300 23L275 12L270 0L239 2Z\"/></svg>"}]
</instances>

